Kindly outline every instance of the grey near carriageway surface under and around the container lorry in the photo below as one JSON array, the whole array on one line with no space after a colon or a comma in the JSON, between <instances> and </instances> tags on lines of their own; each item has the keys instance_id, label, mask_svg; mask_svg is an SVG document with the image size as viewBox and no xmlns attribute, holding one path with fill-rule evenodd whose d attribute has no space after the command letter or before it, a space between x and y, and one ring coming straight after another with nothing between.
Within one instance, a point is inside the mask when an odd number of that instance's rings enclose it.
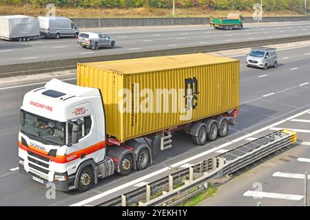
<instances>
[{"instance_id":1,"label":"grey near carriageway surface under and around the container lorry","mask_svg":"<svg viewBox=\"0 0 310 220\"><path fill-rule=\"evenodd\" d=\"M195 164L205 158L217 155L221 152L220 150L229 150L244 144L249 137L258 137L271 132L269 129L272 127L286 126L283 122L287 122L287 120L284 119L292 115L293 118L298 118L297 113L309 109L310 45L279 51L278 68L271 68L267 71L248 68L245 66L245 56L238 58L240 58L241 64L240 113L238 125L231 127L229 135L225 139L208 142L205 146L195 146L189 136L181 132L176 133L173 139L174 147L165 152L158 151L154 157L154 164L146 170L134 171L126 177L120 177L117 174L107 177L100 180L99 184L90 191L84 193L56 192L55 199L47 199L45 193L48 189L45 186L20 175L16 170L18 166L19 106L23 94L39 87L39 85L1 89L0 206L94 205L100 199L121 195L122 192L126 192L130 188L136 188L141 182L152 181L161 175L167 175L175 168L179 169L180 166ZM75 83L74 80L68 82ZM302 129L307 129L307 127ZM301 140L302 138L304 136L300 135ZM309 148L309 146L307 147ZM251 190L251 187L247 186L241 192L246 190ZM273 190L273 192L275 191Z\"/></svg>"}]
</instances>

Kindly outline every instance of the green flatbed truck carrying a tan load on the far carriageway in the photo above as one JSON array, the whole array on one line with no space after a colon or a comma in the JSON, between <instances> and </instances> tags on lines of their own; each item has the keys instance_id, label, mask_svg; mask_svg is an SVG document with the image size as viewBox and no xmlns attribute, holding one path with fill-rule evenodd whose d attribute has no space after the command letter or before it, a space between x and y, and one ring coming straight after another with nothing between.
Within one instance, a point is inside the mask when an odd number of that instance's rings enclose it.
<instances>
[{"instance_id":1,"label":"green flatbed truck carrying a tan load on the far carriageway","mask_svg":"<svg viewBox=\"0 0 310 220\"><path fill-rule=\"evenodd\" d=\"M210 26L223 30L242 29L243 17L241 14L229 13L227 18L210 18Z\"/></svg>"}]
</instances>

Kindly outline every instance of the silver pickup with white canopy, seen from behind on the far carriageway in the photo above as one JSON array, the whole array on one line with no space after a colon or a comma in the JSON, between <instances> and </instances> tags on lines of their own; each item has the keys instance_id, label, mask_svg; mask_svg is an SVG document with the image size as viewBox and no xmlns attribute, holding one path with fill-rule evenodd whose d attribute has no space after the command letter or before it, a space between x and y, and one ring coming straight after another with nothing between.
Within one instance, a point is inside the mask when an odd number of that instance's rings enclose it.
<instances>
[{"instance_id":1,"label":"silver pickup with white canopy, seen from behind on the far carriageway","mask_svg":"<svg viewBox=\"0 0 310 220\"><path fill-rule=\"evenodd\" d=\"M99 47L113 48L115 46L115 39L107 36L107 34L82 32L79 34L77 43L83 48L98 50Z\"/></svg>"}]
</instances>

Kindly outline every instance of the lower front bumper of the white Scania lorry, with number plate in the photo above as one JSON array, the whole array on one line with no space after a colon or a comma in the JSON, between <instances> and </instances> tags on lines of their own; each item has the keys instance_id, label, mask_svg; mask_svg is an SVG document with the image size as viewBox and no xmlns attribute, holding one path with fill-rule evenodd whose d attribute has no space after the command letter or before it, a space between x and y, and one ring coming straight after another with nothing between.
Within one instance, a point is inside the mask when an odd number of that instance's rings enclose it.
<instances>
[{"instance_id":1,"label":"lower front bumper of the white Scania lorry, with number plate","mask_svg":"<svg viewBox=\"0 0 310 220\"><path fill-rule=\"evenodd\" d=\"M70 186L72 183L74 184L74 178L68 178L65 181L47 181L45 179L42 179L39 177L39 175L36 175L35 173L32 173L29 171L29 173L19 164L19 173L22 173L23 175L26 175L30 177L31 179L40 179L40 183L44 184L45 186L50 186L51 188L55 188L56 190L62 191L62 192L67 192L69 190L74 189L74 187Z\"/></svg>"}]
</instances>

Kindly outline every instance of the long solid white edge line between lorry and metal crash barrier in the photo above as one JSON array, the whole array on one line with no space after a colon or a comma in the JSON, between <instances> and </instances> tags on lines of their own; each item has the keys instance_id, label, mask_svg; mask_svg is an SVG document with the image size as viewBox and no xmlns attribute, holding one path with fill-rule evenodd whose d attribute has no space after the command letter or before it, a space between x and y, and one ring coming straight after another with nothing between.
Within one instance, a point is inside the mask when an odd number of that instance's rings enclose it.
<instances>
[{"instance_id":1,"label":"long solid white edge line between lorry and metal crash barrier","mask_svg":"<svg viewBox=\"0 0 310 220\"><path fill-rule=\"evenodd\" d=\"M287 122L288 120L291 120L291 119L293 119L293 118L297 118L297 117L299 117L300 115L303 115L303 114L305 114L305 113L310 113L310 111L309 111L309 110L302 111L302 112L300 112L300 113L297 113L296 115L292 115L291 117L286 118L285 120L280 120L279 122L270 124L269 126L265 126L265 127L263 127L262 129L258 129L258 130L254 131L254 132L252 132L252 133L249 133L249 134L247 134L247 135L243 135L243 136L241 136L241 137L238 137L238 138L236 138L235 140L232 140L231 142L227 142L227 143L222 144L222 145L220 145L220 146L217 146L217 147L215 147L215 148L211 148L209 151L205 151L205 152L200 153L200 154L198 154L198 155L194 155L193 157L189 157L189 158L187 158L187 159L183 159L183 161L177 162L176 164L172 164L170 167L174 168L174 167L177 167L177 166L186 164L187 162L192 161L193 159L197 159L197 158L202 157L202 156L204 156L204 155L207 155L207 154L209 154L209 153L213 153L213 152L215 152L215 151L218 151L218 150L220 150L221 148L224 148L225 146L229 146L229 145L232 144L232 143L238 142L238 141L240 141L240 140L244 140L244 139L247 138L247 137L251 137L251 136L253 136L253 135L256 135L257 133L260 133L260 132L262 132L262 131L265 131L265 130L267 130L267 129L270 129L271 127L277 126L278 124L282 124L282 123L284 123L284 122ZM85 200L83 200L83 201L80 201L80 202L78 202L78 203L74 203L74 204L72 204L71 206L83 206L83 205L85 205L85 204L87 204L87 203L90 203L90 202L92 202L92 201L95 201L96 199L100 199L100 198L102 198L102 197L105 197L106 195L110 195L110 194L112 194L112 193L114 193L114 192L117 192L118 190L121 190L121 189L126 188L126 187L128 187L128 186L132 186L132 185L134 185L134 184L137 184L138 182L143 181L143 180L145 180L145 179L147 179L147 178L149 178L149 177L154 177L154 176L156 176L156 175L158 175L158 174L160 174L160 173L164 173L165 171L169 170L170 167L162 168L161 170L157 170L157 171L155 171L154 173L150 173L149 175L146 175L146 176L144 176L144 177L141 177L141 178L135 179L135 180L133 180L133 181L130 181L130 182L128 182L127 184L123 184L123 185L121 185L121 186L117 186L116 188L113 188L113 189L111 189L111 190L107 190L106 192L102 192L101 194L95 195L94 197L90 197L90 198L85 199Z\"/></svg>"}]
</instances>

